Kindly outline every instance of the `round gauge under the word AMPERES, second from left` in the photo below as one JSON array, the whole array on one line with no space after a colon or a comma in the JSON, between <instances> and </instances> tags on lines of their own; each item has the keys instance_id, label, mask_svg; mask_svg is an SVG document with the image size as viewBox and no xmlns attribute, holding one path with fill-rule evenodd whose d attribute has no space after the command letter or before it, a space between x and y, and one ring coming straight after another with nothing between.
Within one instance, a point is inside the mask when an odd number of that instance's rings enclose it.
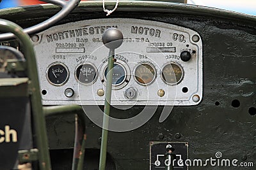
<instances>
[{"instance_id":1,"label":"round gauge under the word AMPERES, second from left","mask_svg":"<svg viewBox=\"0 0 256 170\"><path fill-rule=\"evenodd\" d=\"M77 66L75 71L76 80L83 85L92 85L98 77L98 71L91 63Z\"/></svg>"}]
</instances>

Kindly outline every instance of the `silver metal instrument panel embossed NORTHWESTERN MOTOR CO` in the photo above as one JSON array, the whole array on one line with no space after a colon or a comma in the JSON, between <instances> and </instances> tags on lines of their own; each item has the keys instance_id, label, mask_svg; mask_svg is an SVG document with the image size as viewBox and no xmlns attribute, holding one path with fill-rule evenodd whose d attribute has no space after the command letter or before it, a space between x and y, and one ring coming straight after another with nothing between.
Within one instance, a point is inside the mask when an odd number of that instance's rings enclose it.
<instances>
[{"instance_id":1,"label":"silver metal instrument panel embossed NORTHWESTERN MOTOR CO","mask_svg":"<svg viewBox=\"0 0 256 170\"><path fill-rule=\"evenodd\" d=\"M43 104L104 104L108 48L102 33L124 34L115 50L113 105L196 105L202 100L202 39L185 27L129 18L83 20L32 36ZM186 56L191 58L186 61Z\"/></svg>"}]
</instances>

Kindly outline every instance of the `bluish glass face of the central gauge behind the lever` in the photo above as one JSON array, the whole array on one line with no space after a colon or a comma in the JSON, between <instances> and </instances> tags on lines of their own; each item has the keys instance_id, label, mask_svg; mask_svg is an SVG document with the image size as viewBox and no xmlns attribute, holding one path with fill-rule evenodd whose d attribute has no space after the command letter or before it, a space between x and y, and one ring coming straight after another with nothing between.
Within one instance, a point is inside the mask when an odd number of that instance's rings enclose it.
<instances>
[{"instance_id":1,"label":"bluish glass face of the central gauge behind the lever","mask_svg":"<svg viewBox=\"0 0 256 170\"><path fill-rule=\"evenodd\" d=\"M108 74L108 67L106 67L104 71L104 76L107 80L107 74ZM114 64L113 66L113 79L112 79L112 85L120 85L125 80L125 69L120 64Z\"/></svg>"}]
</instances>

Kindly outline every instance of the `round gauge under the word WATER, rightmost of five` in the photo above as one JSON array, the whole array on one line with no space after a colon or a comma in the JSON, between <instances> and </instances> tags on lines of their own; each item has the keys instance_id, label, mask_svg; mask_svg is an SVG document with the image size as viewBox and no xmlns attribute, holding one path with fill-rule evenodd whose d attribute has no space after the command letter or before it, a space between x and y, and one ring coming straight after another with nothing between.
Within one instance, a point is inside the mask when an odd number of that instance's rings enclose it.
<instances>
[{"instance_id":1,"label":"round gauge under the word WATER, rightmost of five","mask_svg":"<svg viewBox=\"0 0 256 170\"><path fill-rule=\"evenodd\" d=\"M182 67L177 63L165 64L161 72L162 80L168 85L179 84L180 81L182 81L183 76L184 71Z\"/></svg>"}]
</instances>

